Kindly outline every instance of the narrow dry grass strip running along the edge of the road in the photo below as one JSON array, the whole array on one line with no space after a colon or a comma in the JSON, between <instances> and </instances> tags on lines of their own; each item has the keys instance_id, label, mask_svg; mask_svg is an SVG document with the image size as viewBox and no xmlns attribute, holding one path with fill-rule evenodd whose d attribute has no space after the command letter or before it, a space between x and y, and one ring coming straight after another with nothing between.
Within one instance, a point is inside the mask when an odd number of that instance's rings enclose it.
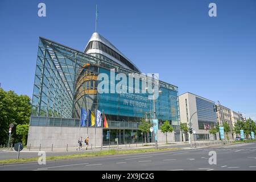
<instances>
[{"instance_id":1,"label":"narrow dry grass strip running along the edge of the road","mask_svg":"<svg viewBox=\"0 0 256 182\"><path fill-rule=\"evenodd\" d=\"M104 156L104 155L117 155L117 154L137 154L145 152L156 152L156 151L172 151L179 150L180 148L145 148L145 149L135 149L135 150L106 150L106 151L97 151L97 152L82 152L80 154L72 155L60 155L60 156L47 156L46 160L61 160L61 159L76 159L76 158L86 158L93 156ZM0 160L0 164L11 164L11 163L25 163L25 162L37 162L37 158L22 158L22 159L6 159Z\"/></svg>"}]
</instances>

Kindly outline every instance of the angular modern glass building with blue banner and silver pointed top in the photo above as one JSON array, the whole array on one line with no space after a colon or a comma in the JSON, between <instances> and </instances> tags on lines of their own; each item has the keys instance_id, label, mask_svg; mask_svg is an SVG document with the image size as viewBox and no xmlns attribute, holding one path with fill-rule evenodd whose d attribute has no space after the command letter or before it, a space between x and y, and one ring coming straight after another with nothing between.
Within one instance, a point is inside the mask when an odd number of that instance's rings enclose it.
<instances>
[{"instance_id":1,"label":"angular modern glass building with blue banner and silver pointed top","mask_svg":"<svg viewBox=\"0 0 256 182\"><path fill-rule=\"evenodd\" d=\"M117 80L111 80L110 70L115 72L114 76L124 73L127 79L129 74L141 73L127 57L98 33L92 35L84 52L40 37L28 143L37 146L42 142L40 140L44 140L44 145L49 146L55 140L65 140L67 144L73 141L75 145L80 135L89 135L95 141L97 139L95 145L114 144L115 138L119 139L119 143L142 142L139 125L143 118L151 121L153 101L148 99L148 93L142 92L99 93L99 74L108 75L109 82L114 86L118 83ZM135 81L136 78L133 82ZM139 79L139 83L139 90L142 90L142 79ZM156 86L161 90L155 100L159 125L163 121L169 121L178 135L177 86L163 81L159 81ZM81 108L104 112L109 127L81 127ZM62 143L59 146L64 146Z\"/></svg>"}]
</instances>

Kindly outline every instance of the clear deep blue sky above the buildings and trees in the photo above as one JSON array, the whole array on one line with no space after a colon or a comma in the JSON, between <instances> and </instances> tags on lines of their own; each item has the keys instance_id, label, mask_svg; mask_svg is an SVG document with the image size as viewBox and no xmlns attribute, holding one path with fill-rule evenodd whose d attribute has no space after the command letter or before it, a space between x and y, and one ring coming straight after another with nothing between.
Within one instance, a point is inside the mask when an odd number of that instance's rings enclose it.
<instances>
[{"instance_id":1,"label":"clear deep blue sky above the buildings and trees","mask_svg":"<svg viewBox=\"0 0 256 182\"><path fill-rule=\"evenodd\" d=\"M39 18L38 3L47 16ZM208 16L210 2L217 17ZM84 50L94 32L144 73L256 119L256 1L0 1L0 82L32 97L39 36Z\"/></svg>"}]
</instances>

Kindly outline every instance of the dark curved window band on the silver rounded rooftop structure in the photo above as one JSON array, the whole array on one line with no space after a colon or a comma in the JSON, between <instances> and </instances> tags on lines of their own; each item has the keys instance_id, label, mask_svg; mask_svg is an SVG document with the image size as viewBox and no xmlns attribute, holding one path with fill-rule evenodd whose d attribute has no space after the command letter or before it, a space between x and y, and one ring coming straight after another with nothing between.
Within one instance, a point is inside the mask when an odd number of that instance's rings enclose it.
<instances>
[{"instance_id":1,"label":"dark curved window band on the silver rounded rooftop structure","mask_svg":"<svg viewBox=\"0 0 256 182\"><path fill-rule=\"evenodd\" d=\"M88 46L85 49L85 52L87 52L89 49L100 49L101 51L108 53L108 55L114 57L115 59L121 61L123 64L127 65L132 70L139 72L137 68L134 67L133 64L130 63L125 57L119 55L119 53L115 52L113 49L109 48L105 44L98 42L98 41L92 41L89 42Z\"/></svg>"}]
</instances>

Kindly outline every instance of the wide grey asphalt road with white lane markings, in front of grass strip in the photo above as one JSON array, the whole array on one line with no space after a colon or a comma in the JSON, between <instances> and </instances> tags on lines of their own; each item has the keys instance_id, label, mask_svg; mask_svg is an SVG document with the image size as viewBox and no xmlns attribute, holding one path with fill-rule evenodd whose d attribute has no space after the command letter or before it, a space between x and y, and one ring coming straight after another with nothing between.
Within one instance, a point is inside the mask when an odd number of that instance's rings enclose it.
<instances>
[{"instance_id":1,"label":"wide grey asphalt road with white lane markings, in front of grass strip","mask_svg":"<svg viewBox=\"0 0 256 182\"><path fill-rule=\"evenodd\" d=\"M217 154L217 164L209 164L209 152ZM101 156L95 158L48 161L38 163L10 164L0 166L6 170L256 170L256 144L242 143L227 146L195 148L191 150L163 151L133 155Z\"/></svg>"}]
</instances>

